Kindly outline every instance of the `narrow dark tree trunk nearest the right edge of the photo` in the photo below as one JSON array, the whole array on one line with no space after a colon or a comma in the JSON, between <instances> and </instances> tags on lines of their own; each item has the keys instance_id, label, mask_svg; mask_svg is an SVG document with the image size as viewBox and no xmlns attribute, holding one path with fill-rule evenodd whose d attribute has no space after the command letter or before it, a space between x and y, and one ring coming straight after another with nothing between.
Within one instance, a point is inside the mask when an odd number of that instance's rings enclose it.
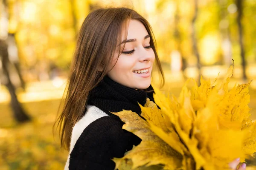
<instances>
[{"instance_id":1,"label":"narrow dark tree trunk nearest the right edge of the photo","mask_svg":"<svg viewBox=\"0 0 256 170\"><path fill-rule=\"evenodd\" d=\"M247 79L245 68L245 52L244 52L244 43L243 43L243 26L241 24L242 15L243 15L243 0L236 0L237 6L237 24L238 24L238 31L239 31L239 45L240 45L240 55L242 59L242 68L243 68L243 79Z\"/></svg>"}]
</instances>

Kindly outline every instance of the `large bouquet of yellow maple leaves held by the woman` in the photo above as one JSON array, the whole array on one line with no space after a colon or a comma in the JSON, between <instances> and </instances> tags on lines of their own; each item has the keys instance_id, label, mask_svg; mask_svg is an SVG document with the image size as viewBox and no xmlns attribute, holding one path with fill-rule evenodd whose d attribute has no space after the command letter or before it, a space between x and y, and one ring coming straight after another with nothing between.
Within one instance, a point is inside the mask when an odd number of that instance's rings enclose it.
<instances>
[{"instance_id":1,"label":"large bouquet of yellow maple leaves held by the woman","mask_svg":"<svg viewBox=\"0 0 256 170\"><path fill-rule=\"evenodd\" d=\"M233 65L224 81L213 84L201 77L179 98L154 88L154 102L132 111L114 113L128 130L142 139L116 162L119 170L228 170L256 152L256 123L250 119L248 84L228 89ZM158 107L157 107L158 106Z\"/></svg>"}]
</instances>

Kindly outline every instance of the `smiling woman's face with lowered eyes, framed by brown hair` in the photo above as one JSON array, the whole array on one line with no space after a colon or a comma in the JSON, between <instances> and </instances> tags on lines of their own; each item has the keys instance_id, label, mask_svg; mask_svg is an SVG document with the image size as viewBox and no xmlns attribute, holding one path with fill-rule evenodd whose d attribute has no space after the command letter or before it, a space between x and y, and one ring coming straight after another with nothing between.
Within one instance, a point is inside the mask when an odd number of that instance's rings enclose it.
<instances>
[{"instance_id":1,"label":"smiling woman's face with lowered eyes, framed by brown hair","mask_svg":"<svg viewBox=\"0 0 256 170\"><path fill-rule=\"evenodd\" d=\"M122 30L122 42L124 42L122 47L123 45L125 47L119 57L117 49L111 68L115 63L116 65L108 72L108 77L129 88L148 88L151 84L151 71L155 59L154 51L149 44L148 31L140 21L130 20L126 41L125 29Z\"/></svg>"}]
</instances>

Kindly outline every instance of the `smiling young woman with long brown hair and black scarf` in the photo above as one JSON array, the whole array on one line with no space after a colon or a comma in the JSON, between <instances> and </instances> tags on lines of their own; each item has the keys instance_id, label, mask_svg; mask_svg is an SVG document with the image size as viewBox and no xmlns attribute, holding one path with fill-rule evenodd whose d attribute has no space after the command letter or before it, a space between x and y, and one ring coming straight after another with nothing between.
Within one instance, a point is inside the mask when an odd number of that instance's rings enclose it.
<instances>
[{"instance_id":1,"label":"smiling young woman with long brown hair and black scarf","mask_svg":"<svg viewBox=\"0 0 256 170\"><path fill-rule=\"evenodd\" d=\"M61 145L69 148L65 170L113 170L141 139L122 129L111 112L141 113L153 99L153 64L163 71L147 20L129 8L97 9L85 18L71 66ZM164 82L164 81L163 81Z\"/></svg>"}]
</instances>

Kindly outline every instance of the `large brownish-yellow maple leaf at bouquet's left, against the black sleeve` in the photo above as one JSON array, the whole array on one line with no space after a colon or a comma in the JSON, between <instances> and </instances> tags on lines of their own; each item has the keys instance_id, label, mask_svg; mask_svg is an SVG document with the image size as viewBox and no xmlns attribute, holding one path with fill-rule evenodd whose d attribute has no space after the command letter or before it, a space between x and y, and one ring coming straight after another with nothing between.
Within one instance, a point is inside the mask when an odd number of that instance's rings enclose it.
<instances>
[{"instance_id":1,"label":"large brownish-yellow maple leaf at bouquet's left, against the black sleeve","mask_svg":"<svg viewBox=\"0 0 256 170\"><path fill-rule=\"evenodd\" d=\"M142 142L125 154L122 160L131 159L132 169L141 166L164 164L164 169L176 169L181 167L182 155L160 139L150 130L150 127L137 113L121 111L113 113L121 118L128 130L142 139ZM120 162L120 160L119 160ZM119 162L116 168L119 168Z\"/></svg>"}]
</instances>

